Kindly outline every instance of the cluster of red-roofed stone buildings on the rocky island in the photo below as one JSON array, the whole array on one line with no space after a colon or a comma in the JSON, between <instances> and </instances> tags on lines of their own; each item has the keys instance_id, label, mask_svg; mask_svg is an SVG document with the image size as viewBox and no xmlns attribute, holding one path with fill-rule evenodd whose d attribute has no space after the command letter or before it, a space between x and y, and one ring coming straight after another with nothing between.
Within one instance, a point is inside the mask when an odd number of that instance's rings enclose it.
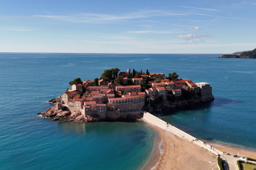
<instances>
[{"instance_id":1,"label":"cluster of red-roofed stone buildings on the rocky island","mask_svg":"<svg viewBox=\"0 0 256 170\"><path fill-rule=\"evenodd\" d=\"M127 80L129 73L120 72L119 76ZM140 84L147 78L156 77L161 82L149 81L151 88L142 92ZM188 79L169 81L162 73L151 73L141 75L132 79L130 86L116 86L112 82L99 80L99 86L91 86L92 81L83 81L82 84L73 84L68 92L61 95L62 105L69 108L71 112L81 111L83 116L100 116L106 118L107 111L138 111L143 109L147 96L166 96L167 91L171 91L175 96L181 96L181 89L189 86L200 92L202 98L209 98L212 95L212 87L207 83L198 83ZM125 81L124 81L125 82ZM125 83L123 83L125 84ZM77 95L82 94L83 96Z\"/></svg>"}]
</instances>

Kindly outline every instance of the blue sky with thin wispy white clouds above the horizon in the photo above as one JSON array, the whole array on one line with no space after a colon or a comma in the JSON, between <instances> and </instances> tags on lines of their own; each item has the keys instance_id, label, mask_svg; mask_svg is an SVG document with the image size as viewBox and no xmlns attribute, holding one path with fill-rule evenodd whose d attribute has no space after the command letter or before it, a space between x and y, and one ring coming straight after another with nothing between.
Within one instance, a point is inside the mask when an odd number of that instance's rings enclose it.
<instances>
[{"instance_id":1,"label":"blue sky with thin wispy white clouds above the horizon","mask_svg":"<svg viewBox=\"0 0 256 170\"><path fill-rule=\"evenodd\" d=\"M0 1L0 52L230 54L256 48L256 0Z\"/></svg>"}]
</instances>

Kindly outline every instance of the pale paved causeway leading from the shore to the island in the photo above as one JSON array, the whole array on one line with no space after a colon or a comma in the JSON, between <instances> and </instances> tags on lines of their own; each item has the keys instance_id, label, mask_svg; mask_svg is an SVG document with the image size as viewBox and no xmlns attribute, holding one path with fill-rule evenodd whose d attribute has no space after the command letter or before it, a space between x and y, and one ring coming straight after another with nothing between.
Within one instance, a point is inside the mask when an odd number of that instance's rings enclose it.
<instances>
[{"instance_id":1,"label":"pale paved causeway leading from the shore to the island","mask_svg":"<svg viewBox=\"0 0 256 170\"><path fill-rule=\"evenodd\" d=\"M177 135L181 139L193 142L193 144L196 144L199 147L202 147L202 148L208 150L209 152L212 152L216 156L220 156L222 159L226 160L225 161L225 170L227 170L227 169L229 169L229 170L239 170L238 165L237 165L237 161L240 159L240 157L243 157L243 156L234 157L233 154L231 154L231 156L228 156L228 155L224 154L224 158L223 158L223 152L221 152L220 150L211 148L210 145L204 144L204 142L202 142L201 140L195 139L195 137L193 137L192 135L189 135L188 133L183 132L182 130L174 127L173 125L170 125L167 122L164 122L160 118L157 118L156 116L154 116L154 115L152 115L152 114L150 114L146 111L144 111L143 114L144 114L143 118L145 118L145 120L154 124L155 126L160 127L163 130L167 130L167 131L173 133L174 135ZM228 163L226 163L226 162L228 162Z\"/></svg>"}]
</instances>

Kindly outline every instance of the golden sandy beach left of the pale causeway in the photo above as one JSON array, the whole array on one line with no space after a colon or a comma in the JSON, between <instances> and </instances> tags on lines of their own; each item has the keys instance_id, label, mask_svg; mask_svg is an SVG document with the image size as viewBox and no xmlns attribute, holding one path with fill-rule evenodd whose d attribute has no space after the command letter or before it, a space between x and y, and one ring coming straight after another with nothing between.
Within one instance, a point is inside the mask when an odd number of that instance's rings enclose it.
<instances>
[{"instance_id":1,"label":"golden sandy beach left of the pale causeway","mask_svg":"<svg viewBox=\"0 0 256 170\"><path fill-rule=\"evenodd\" d=\"M154 126L154 125L152 125ZM217 157L192 142L154 126L161 135L164 150L156 170L162 169L217 169ZM175 144L175 147L174 147ZM209 162L212 157L212 162Z\"/></svg>"}]
</instances>

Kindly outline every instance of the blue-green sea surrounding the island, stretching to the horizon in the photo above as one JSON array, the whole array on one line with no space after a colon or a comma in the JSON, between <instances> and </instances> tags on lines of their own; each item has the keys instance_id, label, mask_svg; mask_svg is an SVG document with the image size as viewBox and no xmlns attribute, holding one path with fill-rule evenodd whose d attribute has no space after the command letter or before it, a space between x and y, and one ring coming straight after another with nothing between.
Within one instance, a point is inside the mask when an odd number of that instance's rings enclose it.
<instances>
[{"instance_id":1,"label":"blue-green sea surrounding the island, stretching to the horizon","mask_svg":"<svg viewBox=\"0 0 256 170\"><path fill-rule=\"evenodd\" d=\"M208 82L214 101L154 115L197 139L256 150L256 60L219 55L0 53L0 169L151 169L145 165L161 152L161 140L142 120L37 115L76 77L92 80L116 67Z\"/></svg>"}]
</instances>

